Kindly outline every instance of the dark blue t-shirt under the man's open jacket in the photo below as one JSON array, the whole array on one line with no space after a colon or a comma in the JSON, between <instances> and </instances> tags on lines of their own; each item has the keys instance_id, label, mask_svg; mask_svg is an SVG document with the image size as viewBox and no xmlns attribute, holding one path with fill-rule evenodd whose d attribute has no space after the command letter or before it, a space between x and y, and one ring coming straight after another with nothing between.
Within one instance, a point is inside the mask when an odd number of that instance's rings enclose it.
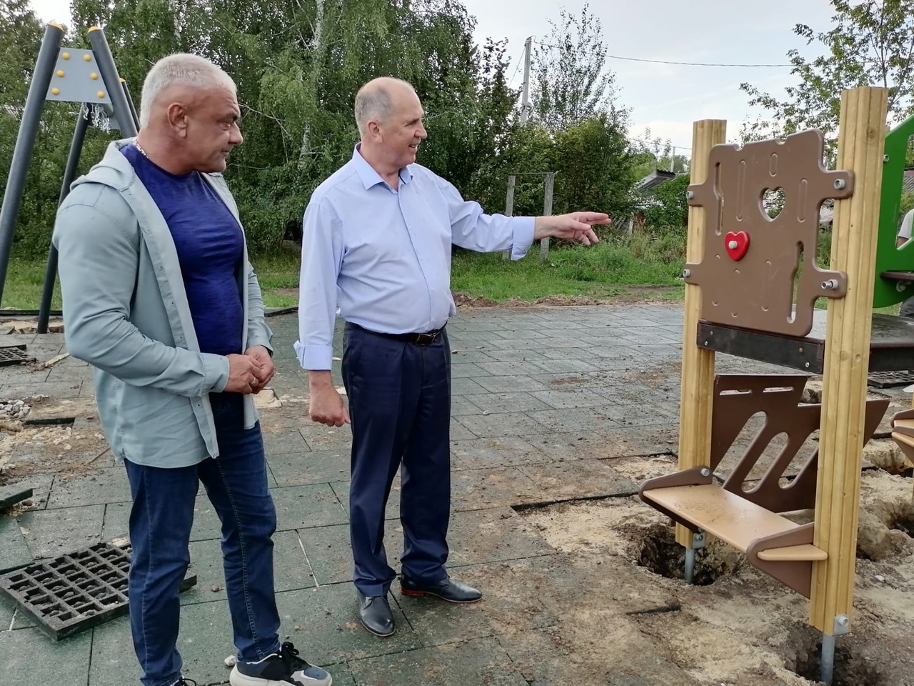
<instances>
[{"instance_id":1,"label":"dark blue t-shirt under the man's open jacket","mask_svg":"<svg viewBox=\"0 0 914 686\"><path fill-rule=\"evenodd\" d=\"M134 145L125 145L121 152L168 223L200 351L243 352L244 308L237 273L244 237L235 215L198 172L170 174Z\"/></svg>"}]
</instances>

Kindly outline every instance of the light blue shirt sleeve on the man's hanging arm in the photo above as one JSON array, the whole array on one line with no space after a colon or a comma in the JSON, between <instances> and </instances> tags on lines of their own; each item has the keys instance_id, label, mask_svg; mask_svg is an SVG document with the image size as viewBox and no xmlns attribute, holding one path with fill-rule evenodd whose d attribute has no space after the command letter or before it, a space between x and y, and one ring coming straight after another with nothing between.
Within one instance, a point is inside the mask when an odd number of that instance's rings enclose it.
<instances>
[{"instance_id":1,"label":"light blue shirt sleeve on the man's hanging arm","mask_svg":"<svg viewBox=\"0 0 914 686\"><path fill-rule=\"evenodd\" d=\"M295 353L304 370L329 370L333 361L336 279L343 263L342 222L330 203L315 198L304 212Z\"/></svg>"}]
</instances>

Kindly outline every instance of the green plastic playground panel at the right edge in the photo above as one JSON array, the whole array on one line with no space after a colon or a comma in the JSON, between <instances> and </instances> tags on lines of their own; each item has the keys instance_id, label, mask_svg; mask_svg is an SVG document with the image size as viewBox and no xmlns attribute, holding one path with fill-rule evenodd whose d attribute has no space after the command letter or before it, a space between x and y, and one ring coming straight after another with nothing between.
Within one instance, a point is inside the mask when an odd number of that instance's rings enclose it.
<instances>
[{"instance_id":1,"label":"green plastic playground panel at the right edge","mask_svg":"<svg viewBox=\"0 0 914 686\"><path fill-rule=\"evenodd\" d=\"M914 134L914 117L898 124L886 136L887 160L882 166L882 198L879 203L879 235L876 244L876 288L873 306L895 305L914 295L914 284L898 290L898 281L883 279L883 272L914 272L914 241L895 247L898 234L898 214L901 208L901 187L904 183L905 157L908 141Z\"/></svg>"}]
</instances>

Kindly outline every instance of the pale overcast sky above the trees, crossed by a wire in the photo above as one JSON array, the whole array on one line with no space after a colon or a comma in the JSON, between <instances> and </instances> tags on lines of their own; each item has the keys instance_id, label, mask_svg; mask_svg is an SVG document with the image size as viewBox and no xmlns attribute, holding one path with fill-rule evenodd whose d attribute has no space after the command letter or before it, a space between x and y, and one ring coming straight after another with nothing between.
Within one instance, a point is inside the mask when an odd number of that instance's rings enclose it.
<instances>
[{"instance_id":1,"label":"pale overcast sky above the trees, crossed by a wire","mask_svg":"<svg viewBox=\"0 0 914 686\"><path fill-rule=\"evenodd\" d=\"M523 82L525 39L547 42L549 21L558 22L559 7L579 14L584 4L463 0L477 19L477 43L490 37L508 39L509 74L516 87ZM69 24L69 0L32 0L32 6L42 19ZM819 54L816 46L806 47L792 28L802 23L818 32L830 27L832 16L828 0L591 0L590 13L600 18L610 55L726 64L785 64L791 48L814 57ZM654 136L669 138L682 148L691 145L692 122L697 119L728 120L732 137L741 122L760 114L739 91L742 81L778 94L795 82L789 67L692 67L624 59L607 59L606 67L616 74L620 104L632 110L632 137L642 137L649 127Z\"/></svg>"}]
</instances>

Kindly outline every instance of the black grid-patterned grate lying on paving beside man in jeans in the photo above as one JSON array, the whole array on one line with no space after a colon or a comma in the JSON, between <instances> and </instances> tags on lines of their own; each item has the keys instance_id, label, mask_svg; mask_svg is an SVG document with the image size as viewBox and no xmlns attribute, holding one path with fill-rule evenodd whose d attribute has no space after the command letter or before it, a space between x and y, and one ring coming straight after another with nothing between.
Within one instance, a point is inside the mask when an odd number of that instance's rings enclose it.
<instances>
[{"instance_id":1,"label":"black grid-patterned grate lying on paving beside man in jeans","mask_svg":"<svg viewBox=\"0 0 914 686\"><path fill-rule=\"evenodd\" d=\"M96 627L128 610L130 549L96 543L47 563L0 576L9 596L50 638L58 641ZM188 570L181 590L197 584Z\"/></svg>"}]
</instances>

